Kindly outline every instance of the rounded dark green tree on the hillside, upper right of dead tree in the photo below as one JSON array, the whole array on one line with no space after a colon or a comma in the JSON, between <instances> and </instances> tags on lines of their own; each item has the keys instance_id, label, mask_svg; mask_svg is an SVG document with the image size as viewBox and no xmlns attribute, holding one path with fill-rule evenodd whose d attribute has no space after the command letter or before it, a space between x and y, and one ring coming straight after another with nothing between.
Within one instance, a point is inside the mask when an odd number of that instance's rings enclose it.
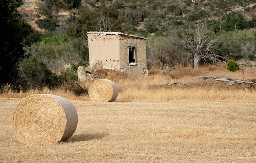
<instances>
[{"instance_id":1,"label":"rounded dark green tree on the hillside, upper right of dead tree","mask_svg":"<svg viewBox=\"0 0 256 163\"><path fill-rule=\"evenodd\" d=\"M241 13L231 12L227 14L225 19L225 30L233 31L234 29L245 29L248 25L248 21Z\"/></svg>"}]
</instances>

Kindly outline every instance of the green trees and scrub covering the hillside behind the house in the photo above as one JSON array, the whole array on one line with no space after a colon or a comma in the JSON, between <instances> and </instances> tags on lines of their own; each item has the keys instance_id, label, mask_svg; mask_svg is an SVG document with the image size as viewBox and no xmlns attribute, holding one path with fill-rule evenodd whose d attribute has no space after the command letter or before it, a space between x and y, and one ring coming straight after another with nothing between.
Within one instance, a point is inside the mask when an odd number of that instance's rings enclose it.
<instances>
[{"instance_id":1,"label":"green trees and scrub covering the hillside behind the house","mask_svg":"<svg viewBox=\"0 0 256 163\"><path fill-rule=\"evenodd\" d=\"M63 3L73 14L58 19ZM84 5L84 3L90 6ZM250 4L252 3L252 4ZM88 62L88 31L119 31L148 38L148 68L163 75L173 67L247 59L256 54L256 0L44 0L32 31L17 8L1 1L0 83L58 87L76 81L76 67ZM76 8L76 9L73 9ZM8 19L6 19L8 18ZM154 33L154 34L152 34ZM200 48L198 48L200 47ZM34 64L31 64L34 62Z\"/></svg>"}]
</instances>

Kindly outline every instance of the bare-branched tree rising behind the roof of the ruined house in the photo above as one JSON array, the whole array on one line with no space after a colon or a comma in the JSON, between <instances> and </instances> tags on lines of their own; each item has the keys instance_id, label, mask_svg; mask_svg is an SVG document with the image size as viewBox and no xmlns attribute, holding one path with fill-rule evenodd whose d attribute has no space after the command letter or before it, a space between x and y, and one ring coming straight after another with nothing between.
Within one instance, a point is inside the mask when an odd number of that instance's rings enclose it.
<instances>
[{"instance_id":1,"label":"bare-branched tree rising behind the roof of the ruined house","mask_svg":"<svg viewBox=\"0 0 256 163\"><path fill-rule=\"evenodd\" d=\"M98 23L96 27L96 31L98 32L112 32L114 31L115 27L113 25L113 22L109 17L106 17L104 15L101 15L98 18Z\"/></svg>"}]
</instances>

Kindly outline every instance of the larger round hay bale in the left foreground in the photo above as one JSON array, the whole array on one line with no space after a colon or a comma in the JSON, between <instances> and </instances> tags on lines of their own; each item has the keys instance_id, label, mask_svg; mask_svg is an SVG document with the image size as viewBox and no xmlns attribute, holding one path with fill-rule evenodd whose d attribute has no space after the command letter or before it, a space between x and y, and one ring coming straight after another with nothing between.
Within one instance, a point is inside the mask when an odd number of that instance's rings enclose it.
<instances>
[{"instance_id":1,"label":"larger round hay bale in the left foreground","mask_svg":"<svg viewBox=\"0 0 256 163\"><path fill-rule=\"evenodd\" d=\"M76 108L67 99L50 94L24 98L13 113L13 128L25 144L66 141L76 130Z\"/></svg>"}]
</instances>

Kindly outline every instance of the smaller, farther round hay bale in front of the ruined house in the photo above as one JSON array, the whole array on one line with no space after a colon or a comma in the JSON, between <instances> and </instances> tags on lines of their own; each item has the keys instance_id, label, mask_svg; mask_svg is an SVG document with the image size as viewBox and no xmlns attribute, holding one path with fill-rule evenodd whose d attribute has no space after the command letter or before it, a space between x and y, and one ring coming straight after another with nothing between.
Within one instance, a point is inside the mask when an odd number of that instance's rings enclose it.
<instances>
[{"instance_id":1,"label":"smaller, farther round hay bale in front of the ruined house","mask_svg":"<svg viewBox=\"0 0 256 163\"><path fill-rule=\"evenodd\" d=\"M118 88L111 80L99 79L90 85L89 96L92 101L113 102L118 96Z\"/></svg>"}]
</instances>

